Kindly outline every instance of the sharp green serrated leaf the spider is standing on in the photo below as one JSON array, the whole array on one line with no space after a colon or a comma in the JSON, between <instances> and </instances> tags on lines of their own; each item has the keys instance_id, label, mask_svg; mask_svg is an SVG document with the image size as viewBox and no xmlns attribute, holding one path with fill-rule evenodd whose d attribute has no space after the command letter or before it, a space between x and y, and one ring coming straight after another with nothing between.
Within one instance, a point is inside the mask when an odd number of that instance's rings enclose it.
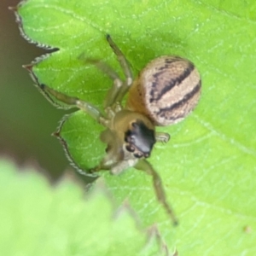
<instances>
[{"instance_id":1,"label":"sharp green serrated leaf the spider is standing on","mask_svg":"<svg viewBox=\"0 0 256 256\"><path fill-rule=\"evenodd\" d=\"M157 145L150 158L180 225L172 227L143 172L104 177L116 200L128 199L144 225L158 223L161 235L182 255L255 254L254 1L30 0L18 13L26 37L60 49L32 67L38 83L99 108L111 81L79 55L106 61L120 72L106 33L135 74L159 55L195 62L203 81L201 102L182 123L159 129L172 140ZM63 129L80 168L102 157L101 128L85 113L73 114ZM92 155L96 159L87 161Z\"/></svg>"}]
</instances>

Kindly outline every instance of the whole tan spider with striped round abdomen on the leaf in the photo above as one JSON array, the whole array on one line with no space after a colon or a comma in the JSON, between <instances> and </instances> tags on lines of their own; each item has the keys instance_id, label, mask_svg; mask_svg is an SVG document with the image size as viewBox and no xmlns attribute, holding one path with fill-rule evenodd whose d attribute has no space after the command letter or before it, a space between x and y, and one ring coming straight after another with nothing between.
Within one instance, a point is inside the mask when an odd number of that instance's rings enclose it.
<instances>
[{"instance_id":1,"label":"whole tan spider with striped round abdomen on the leaf","mask_svg":"<svg viewBox=\"0 0 256 256\"><path fill-rule=\"evenodd\" d=\"M106 155L90 172L108 170L118 175L134 167L148 173L153 178L157 200L173 224L177 224L172 207L166 200L160 175L147 159L155 143L167 143L170 139L168 133L155 131L155 126L177 123L195 108L201 94L200 74L192 62L165 55L149 62L134 80L125 55L109 35L107 40L125 73L125 81L102 61L88 60L113 80L103 104L104 113L90 102L67 96L45 84L40 84L40 87L57 100L89 113L106 127L100 135L102 143L107 144ZM128 99L123 107L121 102L127 92Z\"/></svg>"}]
</instances>

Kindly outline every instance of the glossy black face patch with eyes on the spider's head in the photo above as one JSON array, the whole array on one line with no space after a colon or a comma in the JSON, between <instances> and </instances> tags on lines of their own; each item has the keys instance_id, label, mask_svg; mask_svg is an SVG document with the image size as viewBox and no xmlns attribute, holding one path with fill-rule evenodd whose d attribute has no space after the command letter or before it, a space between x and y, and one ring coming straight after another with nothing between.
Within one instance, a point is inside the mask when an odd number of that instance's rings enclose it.
<instances>
[{"instance_id":1,"label":"glossy black face patch with eyes on the spider's head","mask_svg":"<svg viewBox=\"0 0 256 256\"><path fill-rule=\"evenodd\" d=\"M125 132L125 143L125 148L136 158L147 158L155 143L154 131L148 129L142 120L135 120Z\"/></svg>"}]
</instances>

